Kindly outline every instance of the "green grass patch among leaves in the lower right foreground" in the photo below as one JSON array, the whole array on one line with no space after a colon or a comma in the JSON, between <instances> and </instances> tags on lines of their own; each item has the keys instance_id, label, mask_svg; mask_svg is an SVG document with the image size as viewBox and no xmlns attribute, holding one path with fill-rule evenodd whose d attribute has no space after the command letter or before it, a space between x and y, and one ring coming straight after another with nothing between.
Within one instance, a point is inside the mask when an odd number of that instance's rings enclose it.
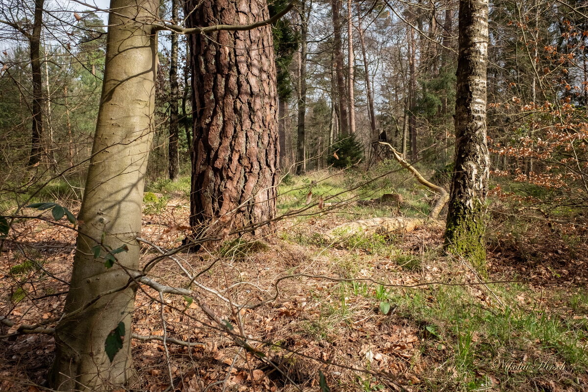
<instances>
[{"instance_id":1,"label":"green grass patch among leaves in the lower right foreground","mask_svg":"<svg viewBox=\"0 0 588 392\"><path fill-rule=\"evenodd\" d=\"M505 306L489 309L464 286L398 289L361 281L345 285L348 295L373 299L380 314L386 311L396 320L410 320L419 329L423 355L443 363L442 370L429 374L417 390L475 391L492 384L491 378L500 380L501 390L517 390L533 377L556 377L561 371L555 366L580 374L588 368L588 321L565 319L533 303L519 304L517 297L534 297L524 286L490 285ZM585 309L586 293L569 296L569 304ZM547 368L539 369L539 363ZM527 367L513 373L508 367L512 364Z\"/></svg>"}]
</instances>

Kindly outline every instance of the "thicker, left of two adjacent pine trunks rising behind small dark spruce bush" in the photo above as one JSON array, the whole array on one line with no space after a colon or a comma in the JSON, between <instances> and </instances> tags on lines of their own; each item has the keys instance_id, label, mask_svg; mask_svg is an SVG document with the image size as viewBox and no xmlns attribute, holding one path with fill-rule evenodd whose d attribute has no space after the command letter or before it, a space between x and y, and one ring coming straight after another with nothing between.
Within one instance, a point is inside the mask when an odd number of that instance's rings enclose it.
<instances>
[{"instance_id":1,"label":"thicker, left of two adjacent pine trunks rising behind small dark spruce bush","mask_svg":"<svg viewBox=\"0 0 588 392\"><path fill-rule=\"evenodd\" d=\"M347 115L347 92L345 75L343 75L343 45L341 43L341 16L339 14L340 0L331 0L333 16L333 52L335 53L335 75L337 82L339 104L339 133L349 135L349 118Z\"/></svg>"}]
</instances>

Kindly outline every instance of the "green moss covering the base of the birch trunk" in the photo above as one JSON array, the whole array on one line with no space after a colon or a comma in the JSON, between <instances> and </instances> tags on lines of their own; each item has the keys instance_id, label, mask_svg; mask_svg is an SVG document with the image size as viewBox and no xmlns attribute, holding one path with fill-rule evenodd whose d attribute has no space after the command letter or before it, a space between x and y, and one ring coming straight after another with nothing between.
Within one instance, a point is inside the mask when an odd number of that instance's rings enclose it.
<instances>
[{"instance_id":1,"label":"green moss covering the base of the birch trunk","mask_svg":"<svg viewBox=\"0 0 588 392\"><path fill-rule=\"evenodd\" d=\"M478 270L486 266L486 209L477 203L472 209L455 203L447 216L445 250L468 260Z\"/></svg>"}]
</instances>

